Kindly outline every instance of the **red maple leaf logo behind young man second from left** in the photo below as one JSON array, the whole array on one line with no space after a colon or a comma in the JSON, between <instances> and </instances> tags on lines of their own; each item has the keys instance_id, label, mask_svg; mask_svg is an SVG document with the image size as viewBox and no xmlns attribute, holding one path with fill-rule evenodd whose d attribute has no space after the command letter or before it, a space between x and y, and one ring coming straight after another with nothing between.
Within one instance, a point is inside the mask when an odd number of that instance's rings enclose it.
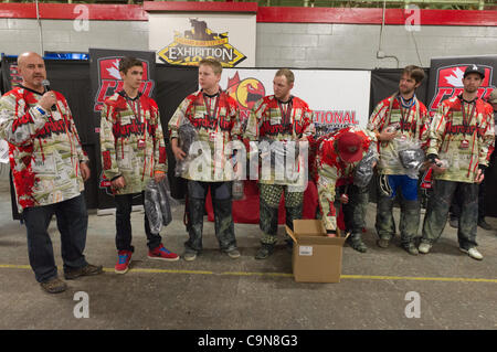
<instances>
[{"instance_id":1,"label":"red maple leaf logo behind young man second from left","mask_svg":"<svg viewBox=\"0 0 497 352\"><path fill-rule=\"evenodd\" d=\"M94 111L98 113L102 106L109 96L115 92L123 89L123 79L119 75L119 61L123 56L103 57L98 58L98 92L95 96ZM144 76L141 77L141 85L139 90L141 94L151 96L154 90L154 81L150 79L149 64L144 63Z\"/></svg>"}]
</instances>

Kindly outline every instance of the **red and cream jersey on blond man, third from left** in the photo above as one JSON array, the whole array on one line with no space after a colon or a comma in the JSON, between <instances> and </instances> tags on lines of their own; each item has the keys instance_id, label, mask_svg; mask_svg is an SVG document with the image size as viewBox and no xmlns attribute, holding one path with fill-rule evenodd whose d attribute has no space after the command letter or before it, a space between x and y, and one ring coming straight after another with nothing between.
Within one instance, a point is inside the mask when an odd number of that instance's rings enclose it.
<instances>
[{"instance_id":1,"label":"red and cream jersey on blond man, third from left","mask_svg":"<svg viewBox=\"0 0 497 352\"><path fill-rule=\"evenodd\" d=\"M232 181L233 149L239 146L233 141L242 132L236 102L222 90L213 96L195 92L184 98L171 117L171 139L179 137L179 128L186 121L197 129L198 140L190 149L194 159L181 177L202 182Z\"/></svg>"}]
</instances>

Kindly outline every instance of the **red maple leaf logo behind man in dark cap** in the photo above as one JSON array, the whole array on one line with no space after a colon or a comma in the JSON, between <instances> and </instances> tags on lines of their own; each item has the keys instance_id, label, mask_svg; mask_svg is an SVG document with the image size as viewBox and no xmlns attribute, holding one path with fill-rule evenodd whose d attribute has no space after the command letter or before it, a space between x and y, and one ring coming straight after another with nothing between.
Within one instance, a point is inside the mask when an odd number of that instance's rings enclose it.
<instances>
[{"instance_id":1,"label":"red maple leaf logo behind man in dark cap","mask_svg":"<svg viewBox=\"0 0 497 352\"><path fill-rule=\"evenodd\" d=\"M451 65L440 67L436 72L435 93L432 102L429 105L429 110L434 113L438 105L453 96L463 93L463 76L464 71L469 65ZM494 68L491 66L479 65L485 70L485 78L482 86L478 88L478 97L486 98L494 88L490 84L493 82Z\"/></svg>"}]
</instances>

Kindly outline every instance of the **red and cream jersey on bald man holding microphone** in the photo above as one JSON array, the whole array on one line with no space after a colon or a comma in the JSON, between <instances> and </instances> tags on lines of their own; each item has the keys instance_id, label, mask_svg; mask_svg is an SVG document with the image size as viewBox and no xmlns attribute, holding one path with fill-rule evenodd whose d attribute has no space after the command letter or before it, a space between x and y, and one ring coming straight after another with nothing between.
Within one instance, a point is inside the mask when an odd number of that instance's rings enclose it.
<instances>
[{"instance_id":1,"label":"red and cream jersey on bald man holding microphone","mask_svg":"<svg viewBox=\"0 0 497 352\"><path fill-rule=\"evenodd\" d=\"M42 94L22 86L0 99L0 138L9 142L20 212L73 199L84 190L80 163L88 158L67 102L54 93L55 111L38 105Z\"/></svg>"}]
</instances>

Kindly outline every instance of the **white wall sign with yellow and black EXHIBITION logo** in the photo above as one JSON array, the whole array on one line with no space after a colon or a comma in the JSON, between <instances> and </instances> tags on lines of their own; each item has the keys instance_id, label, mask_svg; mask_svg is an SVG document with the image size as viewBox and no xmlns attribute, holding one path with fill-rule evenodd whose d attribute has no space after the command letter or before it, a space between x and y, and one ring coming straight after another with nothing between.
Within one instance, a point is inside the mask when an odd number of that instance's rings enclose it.
<instances>
[{"instance_id":1,"label":"white wall sign with yellow and black EXHIBITION logo","mask_svg":"<svg viewBox=\"0 0 497 352\"><path fill-rule=\"evenodd\" d=\"M223 67L255 66L255 13L149 13L149 49L158 63L197 66L215 58Z\"/></svg>"}]
</instances>

